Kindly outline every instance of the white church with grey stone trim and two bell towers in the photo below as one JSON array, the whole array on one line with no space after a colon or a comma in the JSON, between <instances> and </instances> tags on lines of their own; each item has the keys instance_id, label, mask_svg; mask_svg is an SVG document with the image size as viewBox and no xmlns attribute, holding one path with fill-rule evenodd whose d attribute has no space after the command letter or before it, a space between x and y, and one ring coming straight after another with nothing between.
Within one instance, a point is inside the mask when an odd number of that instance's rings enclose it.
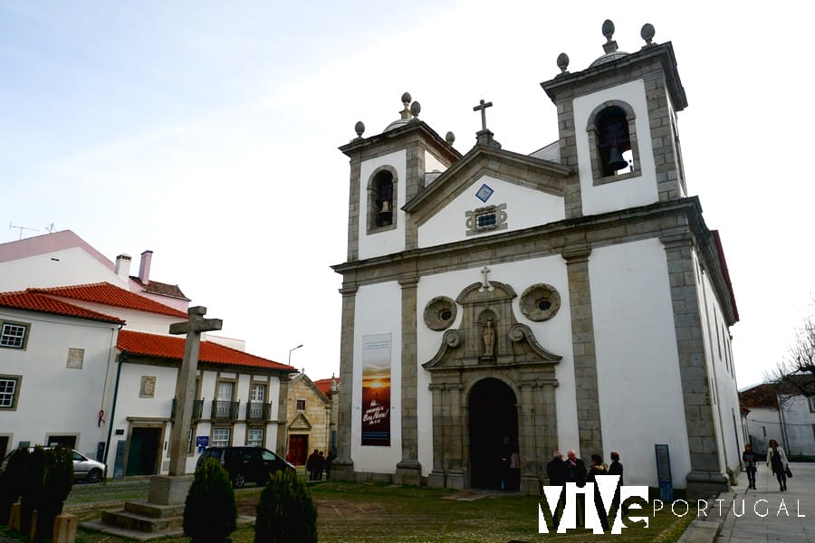
<instances>
[{"instance_id":1,"label":"white church with grey stone trim and two bell towers","mask_svg":"<svg viewBox=\"0 0 815 543\"><path fill-rule=\"evenodd\" d=\"M337 478L539 493L555 450L615 451L626 484L693 496L740 470L738 310L686 188L674 49L651 24L636 52L602 33L590 66L561 53L541 83L559 138L531 155L502 148L484 100L461 154L407 92L340 147Z\"/></svg>"}]
</instances>

